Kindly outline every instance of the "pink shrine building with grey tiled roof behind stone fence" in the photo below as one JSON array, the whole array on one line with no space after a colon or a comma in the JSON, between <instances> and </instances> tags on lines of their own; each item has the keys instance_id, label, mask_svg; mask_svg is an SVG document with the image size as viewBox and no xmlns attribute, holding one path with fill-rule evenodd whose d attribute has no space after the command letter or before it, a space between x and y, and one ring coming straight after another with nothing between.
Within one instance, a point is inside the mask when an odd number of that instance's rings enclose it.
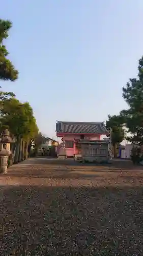
<instances>
[{"instance_id":1,"label":"pink shrine building with grey tiled roof behind stone fence","mask_svg":"<svg viewBox=\"0 0 143 256\"><path fill-rule=\"evenodd\" d=\"M56 122L56 136L62 138L66 157L73 158L81 154L82 141L99 141L102 135L107 135L103 122Z\"/></svg>"}]
</instances>

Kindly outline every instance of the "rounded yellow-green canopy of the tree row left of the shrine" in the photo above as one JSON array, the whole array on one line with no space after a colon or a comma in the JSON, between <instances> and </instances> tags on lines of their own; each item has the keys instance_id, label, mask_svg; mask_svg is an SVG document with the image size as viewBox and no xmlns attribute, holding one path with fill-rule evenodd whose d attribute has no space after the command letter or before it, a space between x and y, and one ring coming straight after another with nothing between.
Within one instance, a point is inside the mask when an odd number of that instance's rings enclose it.
<instances>
[{"instance_id":1,"label":"rounded yellow-green canopy of the tree row left of the shrine","mask_svg":"<svg viewBox=\"0 0 143 256\"><path fill-rule=\"evenodd\" d=\"M1 122L17 138L30 139L38 133L33 110L28 102L21 103L14 97L5 99L1 109Z\"/></svg>"}]
</instances>

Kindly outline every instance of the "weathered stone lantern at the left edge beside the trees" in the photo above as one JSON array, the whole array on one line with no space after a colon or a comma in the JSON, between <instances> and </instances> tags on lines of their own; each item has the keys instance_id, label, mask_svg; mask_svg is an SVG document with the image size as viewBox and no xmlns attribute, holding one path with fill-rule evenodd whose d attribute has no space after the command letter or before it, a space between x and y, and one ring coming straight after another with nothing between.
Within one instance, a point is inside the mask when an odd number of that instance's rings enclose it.
<instances>
[{"instance_id":1,"label":"weathered stone lantern at the left edge beside the trees","mask_svg":"<svg viewBox=\"0 0 143 256\"><path fill-rule=\"evenodd\" d=\"M8 167L8 157L10 156L10 144L12 138L10 137L9 131L6 129L0 140L0 173L6 174Z\"/></svg>"}]
</instances>

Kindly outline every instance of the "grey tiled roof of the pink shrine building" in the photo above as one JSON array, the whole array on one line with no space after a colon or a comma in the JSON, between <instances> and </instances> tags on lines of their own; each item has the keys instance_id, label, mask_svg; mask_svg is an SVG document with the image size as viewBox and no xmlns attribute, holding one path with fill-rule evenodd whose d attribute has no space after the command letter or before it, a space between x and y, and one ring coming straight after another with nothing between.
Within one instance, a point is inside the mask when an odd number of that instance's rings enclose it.
<instances>
[{"instance_id":1,"label":"grey tiled roof of the pink shrine building","mask_svg":"<svg viewBox=\"0 0 143 256\"><path fill-rule=\"evenodd\" d=\"M103 122L63 122L56 123L57 133L107 134Z\"/></svg>"}]
</instances>

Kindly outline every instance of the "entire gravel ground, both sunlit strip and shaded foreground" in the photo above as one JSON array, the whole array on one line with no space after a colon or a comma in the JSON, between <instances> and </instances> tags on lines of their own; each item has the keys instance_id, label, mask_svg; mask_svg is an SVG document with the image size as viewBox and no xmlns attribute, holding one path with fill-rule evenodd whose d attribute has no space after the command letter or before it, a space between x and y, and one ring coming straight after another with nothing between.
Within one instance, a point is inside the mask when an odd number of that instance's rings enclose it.
<instances>
[{"instance_id":1,"label":"entire gravel ground, both sunlit strip and shaded foreground","mask_svg":"<svg viewBox=\"0 0 143 256\"><path fill-rule=\"evenodd\" d=\"M142 169L54 161L0 177L0 255L142 255Z\"/></svg>"}]
</instances>

